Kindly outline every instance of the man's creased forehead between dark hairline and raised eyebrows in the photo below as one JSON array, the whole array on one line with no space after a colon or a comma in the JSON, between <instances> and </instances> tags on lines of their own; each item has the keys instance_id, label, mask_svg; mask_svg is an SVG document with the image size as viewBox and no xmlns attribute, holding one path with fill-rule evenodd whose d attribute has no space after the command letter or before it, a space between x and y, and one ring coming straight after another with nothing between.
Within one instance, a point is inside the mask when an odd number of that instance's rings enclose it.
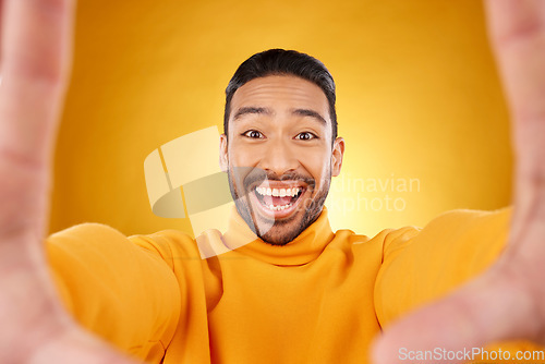
<instances>
[{"instance_id":1,"label":"man's creased forehead between dark hairline and raised eyebrows","mask_svg":"<svg viewBox=\"0 0 545 364\"><path fill-rule=\"evenodd\" d=\"M242 85L231 99L231 114L241 108L268 108L275 113L294 109L313 110L328 124L329 104L327 97L314 83L292 75L270 75L254 78Z\"/></svg>"}]
</instances>

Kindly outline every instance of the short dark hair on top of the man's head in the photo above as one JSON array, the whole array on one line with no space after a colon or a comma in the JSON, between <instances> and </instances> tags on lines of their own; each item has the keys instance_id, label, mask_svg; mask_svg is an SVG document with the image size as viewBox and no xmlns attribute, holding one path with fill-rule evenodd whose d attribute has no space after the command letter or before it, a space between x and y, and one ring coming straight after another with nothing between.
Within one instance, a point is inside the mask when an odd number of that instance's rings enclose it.
<instances>
[{"instance_id":1,"label":"short dark hair on top of the man's head","mask_svg":"<svg viewBox=\"0 0 545 364\"><path fill-rule=\"evenodd\" d=\"M245 60L239 68L226 88L226 110L223 116L223 133L229 130L229 114L234 93L245 83L269 75L294 75L317 85L329 102L332 141L337 138L337 112L335 110L335 81L324 63L305 53L295 50L269 49L256 53Z\"/></svg>"}]
</instances>

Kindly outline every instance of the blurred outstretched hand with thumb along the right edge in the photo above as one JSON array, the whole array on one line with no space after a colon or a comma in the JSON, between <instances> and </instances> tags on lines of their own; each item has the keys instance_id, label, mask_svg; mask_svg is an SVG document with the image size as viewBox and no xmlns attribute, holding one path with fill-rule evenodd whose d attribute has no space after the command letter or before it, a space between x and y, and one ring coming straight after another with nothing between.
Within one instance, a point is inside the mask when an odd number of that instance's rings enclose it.
<instances>
[{"instance_id":1,"label":"blurred outstretched hand with thumb along the right edge","mask_svg":"<svg viewBox=\"0 0 545 364\"><path fill-rule=\"evenodd\" d=\"M545 1L486 5L517 157L509 245L484 275L389 328L376 342L375 363L399 363L400 348L459 351L516 339L545 344Z\"/></svg>"}]
</instances>

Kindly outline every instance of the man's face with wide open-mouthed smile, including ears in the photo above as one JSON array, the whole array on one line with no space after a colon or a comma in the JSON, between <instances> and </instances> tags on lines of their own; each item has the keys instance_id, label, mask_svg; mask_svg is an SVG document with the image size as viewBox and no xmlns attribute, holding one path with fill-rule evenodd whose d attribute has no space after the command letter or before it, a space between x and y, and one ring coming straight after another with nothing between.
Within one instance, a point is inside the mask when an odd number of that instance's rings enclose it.
<instances>
[{"instance_id":1,"label":"man's face with wide open-mouthed smile, including ears","mask_svg":"<svg viewBox=\"0 0 545 364\"><path fill-rule=\"evenodd\" d=\"M264 241L289 243L319 216L342 163L324 92L295 76L254 78L233 95L228 130L220 165L239 214Z\"/></svg>"}]
</instances>

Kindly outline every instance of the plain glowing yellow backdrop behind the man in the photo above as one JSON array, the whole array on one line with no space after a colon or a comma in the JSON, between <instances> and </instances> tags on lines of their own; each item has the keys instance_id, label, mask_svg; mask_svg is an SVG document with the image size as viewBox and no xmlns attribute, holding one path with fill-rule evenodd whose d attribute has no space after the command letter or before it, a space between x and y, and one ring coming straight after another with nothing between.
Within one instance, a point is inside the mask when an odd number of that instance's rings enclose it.
<instances>
[{"instance_id":1,"label":"plain glowing yellow backdrop behind the man","mask_svg":"<svg viewBox=\"0 0 545 364\"><path fill-rule=\"evenodd\" d=\"M331 206L334 229L374 234L452 208L505 206L508 117L483 16L475 0L81 0L50 229L191 232L187 219L152 214L144 159L178 136L221 130L229 78L268 48L315 56L336 78L347 153L328 198L346 209ZM420 191L360 183L391 178L417 179ZM374 198L382 208L365 208ZM386 198L402 198L403 210L388 211Z\"/></svg>"}]
</instances>

